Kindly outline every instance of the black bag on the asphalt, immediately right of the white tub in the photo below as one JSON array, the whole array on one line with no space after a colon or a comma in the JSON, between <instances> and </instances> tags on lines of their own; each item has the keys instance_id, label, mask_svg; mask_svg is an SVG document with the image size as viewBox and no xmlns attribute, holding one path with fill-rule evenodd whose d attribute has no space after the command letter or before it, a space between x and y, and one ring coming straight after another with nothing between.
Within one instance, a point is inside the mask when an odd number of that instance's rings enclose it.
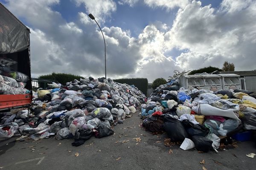
<instances>
[{"instance_id":1,"label":"black bag on the asphalt, immediately right of the white tub","mask_svg":"<svg viewBox=\"0 0 256 170\"><path fill-rule=\"evenodd\" d=\"M203 136L192 136L191 140L198 151L208 152L212 148L212 141Z\"/></svg>"}]
</instances>

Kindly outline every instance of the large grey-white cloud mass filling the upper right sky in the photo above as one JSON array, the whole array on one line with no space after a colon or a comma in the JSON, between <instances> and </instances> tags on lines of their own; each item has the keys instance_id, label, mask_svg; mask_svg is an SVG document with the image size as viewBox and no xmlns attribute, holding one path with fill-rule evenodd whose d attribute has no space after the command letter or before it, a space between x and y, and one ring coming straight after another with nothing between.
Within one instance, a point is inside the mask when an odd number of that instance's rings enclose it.
<instances>
[{"instance_id":1,"label":"large grey-white cloud mass filling the upper right sky","mask_svg":"<svg viewBox=\"0 0 256 170\"><path fill-rule=\"evenodd\" d=\"M228 6L230 2L239 4L241 1L225 0L222 10L201 7L200 1L193 1L178 11L171 30L165 34L169 49L189 50L177 57L178 66L186 70L209 65L221 68L227 60L235 64L236 70L255 69L256 59L252 54L256 53L253 48L256 45L256 8L252 6L256 1L244 5L243 10L234 5L224 11L224 4Z\"/></svg>"}]
</instances>

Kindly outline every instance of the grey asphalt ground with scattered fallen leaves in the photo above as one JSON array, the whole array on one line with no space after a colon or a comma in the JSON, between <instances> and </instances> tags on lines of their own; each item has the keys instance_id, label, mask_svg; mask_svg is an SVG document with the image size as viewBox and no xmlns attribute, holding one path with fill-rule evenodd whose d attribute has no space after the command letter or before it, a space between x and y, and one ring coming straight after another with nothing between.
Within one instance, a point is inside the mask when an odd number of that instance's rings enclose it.
<instances>
[{"instance_id":1,"label":"grey asphalt ground with scattered fallen leaves","mask_svg":"<svg viewBox=\"0 0 256 170\"><path fill-rule=\"evenodd\" d=\"M239 142L226 150L198 153L182 150L180 145L165 146L166 134L152 135L140 127L139 113L114 126L114 135L94 136L74 147L73 139L53 137L38 141L15 142L17 137L0 142L1 170L255 170L253 142ZM137 141L136 139L137 138ZM140 138L140 139L138 139ZM169 153L169 150L172 153ZM79 155L76 156L76 153ZM204 160L204 164L200 161Z\"/></svg>"}]
</instances>

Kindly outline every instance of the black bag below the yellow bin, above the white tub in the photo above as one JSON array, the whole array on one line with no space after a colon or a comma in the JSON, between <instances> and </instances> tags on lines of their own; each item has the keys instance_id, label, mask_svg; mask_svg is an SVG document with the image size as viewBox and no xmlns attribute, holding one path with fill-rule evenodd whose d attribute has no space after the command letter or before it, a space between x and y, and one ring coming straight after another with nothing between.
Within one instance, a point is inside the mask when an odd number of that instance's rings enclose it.
<instances>
[{"instance_id":1,"label":"black bag below the yellow bin, above the white tub","mask_svg":"<svg viewBox=\"0 0 256 170\"><path fill-rule=\"evenodd\" d=\"M200 124L193 124L189 122L189 120L183 120L183 125L185 126L186 132L188 135L191 136L207 136L210 132L209 128L200 125Z\"/></svg>"}]
</instances>

